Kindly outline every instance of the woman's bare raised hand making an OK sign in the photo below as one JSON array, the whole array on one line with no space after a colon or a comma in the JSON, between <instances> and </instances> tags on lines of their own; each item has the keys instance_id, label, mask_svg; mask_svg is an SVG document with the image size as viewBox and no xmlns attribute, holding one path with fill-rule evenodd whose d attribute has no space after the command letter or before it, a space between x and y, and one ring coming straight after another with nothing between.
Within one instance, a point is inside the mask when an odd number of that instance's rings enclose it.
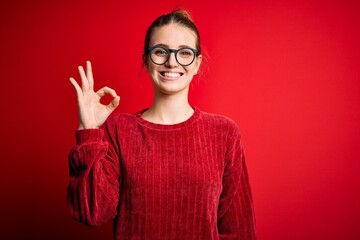
<instances>
[{"instance_id":1,"label":"woman's bare raised hand making an OK sign","mask_svg":"<svg viewBox=\"0 0 360 240\"><path fill-rule=\"evenodd\" d=\"M119 105L120 97L113 89L108 87L103 87L94 92L94 79L89 61L86 62L86 74L82 66L79 66L79 73L82 83L81 87L74 78L70 78L70 82L74 86L77 95L80 121L79 130L99 128ZM100 102L100 99L105 95L113 97L108 105L103 105Z\"/></svg>"}]
</instances>

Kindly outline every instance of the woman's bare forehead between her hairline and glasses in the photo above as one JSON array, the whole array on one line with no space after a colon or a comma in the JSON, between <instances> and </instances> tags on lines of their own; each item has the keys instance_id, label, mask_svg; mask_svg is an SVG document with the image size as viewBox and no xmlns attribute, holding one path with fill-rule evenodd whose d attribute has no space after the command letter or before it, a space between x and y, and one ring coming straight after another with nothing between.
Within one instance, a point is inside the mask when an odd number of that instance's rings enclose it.
<instances>
[{"instance_id":1,"label":"woman's bare forehead between her hairline and glasses","mask_svg":"<svg viewBox=\"0 0 360 240\"><path fill-rule=\"evenodd\" d=\"M182 45L187 45L195 48L196 38L196 34L191 29L177 23L170 23L155 28L150 39L150 46L164 44L170 48L177 48Z\"/></svg>"}]
</instances>

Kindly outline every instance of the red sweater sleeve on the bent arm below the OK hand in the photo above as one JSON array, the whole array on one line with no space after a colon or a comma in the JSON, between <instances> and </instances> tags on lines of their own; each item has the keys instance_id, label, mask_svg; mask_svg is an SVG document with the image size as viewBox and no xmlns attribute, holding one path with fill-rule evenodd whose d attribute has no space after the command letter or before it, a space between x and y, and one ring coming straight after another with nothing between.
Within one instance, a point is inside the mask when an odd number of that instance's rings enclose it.
<instances>
[{"instance_id":1,"label":"red sweater sleeve on the bent arm below the OK hand","mask_svg":"<svg viewBox=\"0 0 360 240\"><path fill-rule=\"evenodd\" d=\"M99 226L117 214L119 158L105 132L109 132L106 127L77 131L77 145L69 154L68 206L74 219L89 226Z\"/></svg>"}]
</instances>

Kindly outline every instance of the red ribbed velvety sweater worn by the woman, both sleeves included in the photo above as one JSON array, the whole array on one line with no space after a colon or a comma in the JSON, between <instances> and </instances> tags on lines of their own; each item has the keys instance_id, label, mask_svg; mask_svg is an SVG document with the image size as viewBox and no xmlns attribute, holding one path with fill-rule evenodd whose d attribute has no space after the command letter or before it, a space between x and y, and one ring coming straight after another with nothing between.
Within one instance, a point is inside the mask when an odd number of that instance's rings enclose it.
<instances>
[{"instance_id":1,"label":"red ribbed velvety sweater worn by the woman, both sleeves included","mask_svg":"<svg viewBox=\"0 0 360 240\"><path fill-rule=\"evenodd\" d=\"M72 216L115 239L256 239L237 125L201 112L161 125L117 114L76 132L69 154Z\"/></svg>"}]
</instances>

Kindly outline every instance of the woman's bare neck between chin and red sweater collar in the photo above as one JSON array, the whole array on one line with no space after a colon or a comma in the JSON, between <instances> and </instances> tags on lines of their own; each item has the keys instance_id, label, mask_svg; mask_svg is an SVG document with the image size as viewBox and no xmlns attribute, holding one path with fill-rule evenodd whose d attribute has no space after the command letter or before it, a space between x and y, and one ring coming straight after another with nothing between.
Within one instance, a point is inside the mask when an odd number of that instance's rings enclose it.
<instances>
[{"instance_id":1,"label":"woman's bare neck between chin and red sweater collar","mask_svg":"<svg viewBox=\"0 0 360 240\"><path fill-rule=\"evenodd\" d=\"M177 124L188 120L193 113L187 94L155 95L152 106L143 113L142 118L158 124Z\"/></svg>"}]
</instances>

